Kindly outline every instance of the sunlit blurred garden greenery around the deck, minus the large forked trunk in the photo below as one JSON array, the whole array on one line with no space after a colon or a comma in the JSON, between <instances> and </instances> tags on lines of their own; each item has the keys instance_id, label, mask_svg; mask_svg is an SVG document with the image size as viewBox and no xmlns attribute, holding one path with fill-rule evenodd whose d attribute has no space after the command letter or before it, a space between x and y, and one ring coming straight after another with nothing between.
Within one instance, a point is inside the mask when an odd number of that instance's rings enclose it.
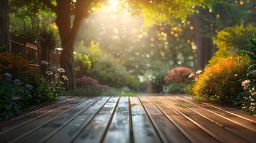
<instances>
[{"instance_id":1,"label":"sunlit blurred garden greenery around the deck, minus the large forked trunk","mask_svg":"<svg viewBox=\"0 0 256 143\"><path fill-rule=\"evenodd\" d=\"M72 80L70 67L54 57L65 50L54 9L41 1L10 0L10 35L36 45L39 60L31 66L22 53L1 46L0 116L61 95L145 92L186 93L256 114L256 1L136 2L91 2L73 42ZM76 4L70 1L70 11ZM174 9L165 11L169 7ZM72 81L76 88L65 89Z\"/></svg>"}]
</instances>

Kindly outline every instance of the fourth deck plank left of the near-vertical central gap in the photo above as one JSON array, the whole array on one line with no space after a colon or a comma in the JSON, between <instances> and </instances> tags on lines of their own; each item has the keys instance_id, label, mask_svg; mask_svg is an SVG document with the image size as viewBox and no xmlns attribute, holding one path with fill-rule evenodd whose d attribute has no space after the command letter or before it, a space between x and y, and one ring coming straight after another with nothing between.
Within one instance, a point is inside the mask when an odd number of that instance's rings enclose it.
<instances>
[{"instance_id":1,"label":"fourth deck plank left of the near-vertical central gap","mask_svg":"<svg viewBox=\"0 0 256 143\"><path fill-rule=\"evenodd\" d=\"M93 104L95 101L97 101L100 97L94 97L90 99L84 99L84 102L75 108L72 108L72 110L67 111L67 113L62 114L57 119L51 121L50 123L47 123L46 125L42 126L38 130L35 130L35 132L30 133L30 135L27 135L25 138L21 139L21 142L29 142L29 141L40 141L41 139L44 139L45 136L49 135L51 132L56 132L55 130L59 130L58 128L63 128L63 124L66 125L71 120L73 120L76 116L82 113L82 111L86 110L88 107L90 107L91 104Z\"/></svg>"}]
</instances>

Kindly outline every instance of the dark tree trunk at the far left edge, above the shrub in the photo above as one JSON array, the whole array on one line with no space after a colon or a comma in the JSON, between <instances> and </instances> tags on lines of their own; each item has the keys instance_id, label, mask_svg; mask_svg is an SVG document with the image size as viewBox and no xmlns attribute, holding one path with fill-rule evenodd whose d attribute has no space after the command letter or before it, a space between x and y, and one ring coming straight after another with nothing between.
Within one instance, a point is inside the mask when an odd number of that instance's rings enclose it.
<instances>
[{"instance_id":1,"label":"dark tree trunk at the far left edge, above the shrub","mask_svg":"<svg viewBox=\"0 0 256 143\"><path fill-rule=\"evenodd\" d=\"M9 0L0 1L0 46L6 46L5 51L10 51L9 8Z\"/></svg>"}]
</instances>

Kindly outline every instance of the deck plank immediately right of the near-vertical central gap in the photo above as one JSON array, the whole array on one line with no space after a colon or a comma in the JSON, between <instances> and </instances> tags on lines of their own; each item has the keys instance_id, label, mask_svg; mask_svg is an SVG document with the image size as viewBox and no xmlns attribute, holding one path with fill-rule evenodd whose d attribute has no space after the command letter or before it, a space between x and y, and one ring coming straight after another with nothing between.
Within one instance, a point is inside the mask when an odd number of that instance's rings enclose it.
<instances>
[{"instance_id":1,"label":"deck plank immediately right of the near-vertical central gap","mask_svg":"<svg viewBox=\"0 0 256 143\"><path fill-rule=\"evenodd\" d=\"M134 142L161 142L138 98L130 97L130 101Z\"/></svg>"}]
</instances>

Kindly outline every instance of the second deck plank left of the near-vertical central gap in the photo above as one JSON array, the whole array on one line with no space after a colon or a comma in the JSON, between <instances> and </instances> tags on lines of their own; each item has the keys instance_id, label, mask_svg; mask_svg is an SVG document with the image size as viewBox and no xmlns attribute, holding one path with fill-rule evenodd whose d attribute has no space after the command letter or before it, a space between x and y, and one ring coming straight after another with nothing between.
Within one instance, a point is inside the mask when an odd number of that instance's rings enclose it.
<instances>
[{"instance_id":1,"label":"second deck plank left of the near-vertical central gap","mask_svg":"<svg viewBox=\"0 0 256 143\"><path fill-rule=\"evenodd\" d=\"M118 104L119 97L112 97L94 116L74 142L100 142L107 125L112 117L113 111Z\"/></svg>"}]
</instances>

